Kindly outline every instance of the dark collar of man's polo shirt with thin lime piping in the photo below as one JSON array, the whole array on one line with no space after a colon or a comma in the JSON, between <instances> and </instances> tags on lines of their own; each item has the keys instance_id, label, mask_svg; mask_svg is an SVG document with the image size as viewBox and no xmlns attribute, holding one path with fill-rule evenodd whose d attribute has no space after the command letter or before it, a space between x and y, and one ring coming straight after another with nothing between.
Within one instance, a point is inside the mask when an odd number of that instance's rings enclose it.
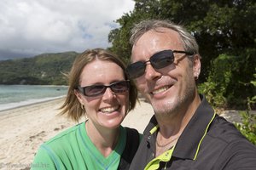
<instances>
[{"instance_id":1,"label":"dark collar of man's polo shirt with thin lime piping","mask_svg":"<svg viewBox=\"0 0 256 170\"><path fill-rule=\"evenodd\" d=\"M184 128L183 133L179 137L172 156L184 159L196 159L200 150L201 141L204 139L207 129L216 116L211 105L208 104L205 96L201 95L201 104L195 111L188 125ZM151 135L150 131L158 127L155 116L152 116L148 126L144 131L144 135Z\"/></svg>"}]
</instances>

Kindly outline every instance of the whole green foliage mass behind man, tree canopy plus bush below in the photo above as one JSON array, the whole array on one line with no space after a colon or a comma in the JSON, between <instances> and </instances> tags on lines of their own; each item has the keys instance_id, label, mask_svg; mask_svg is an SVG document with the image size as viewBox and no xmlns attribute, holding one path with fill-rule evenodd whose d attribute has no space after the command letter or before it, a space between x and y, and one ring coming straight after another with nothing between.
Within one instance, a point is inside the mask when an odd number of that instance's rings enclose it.
<instances>
[{"instance_id":1,"label":"whole green foliage mass behind man, tree canopy plus bush below","mask_svg":"<svg viewBox=\"0 0 256 170\"><path fill-rule=\"evenodd\" d=\"M201 89L206 88L204 91L215 105L241 107L247 96L253 94L253 87L243 82L252 80L256 64L255 17L253 0L135 0L134 10L116 20L120 27L110 32L108 40L113 44L110 49L128 62L131 55L129 37L134 24L145 19L182 24L200 46L199 83L205 82ZM219 60L227 64L227 68L221 63L221 66L214 64L217 62L214 59L222 54L232 56ZM230 59L232 64L229 64Z\"/></svg>"}]
</instances>

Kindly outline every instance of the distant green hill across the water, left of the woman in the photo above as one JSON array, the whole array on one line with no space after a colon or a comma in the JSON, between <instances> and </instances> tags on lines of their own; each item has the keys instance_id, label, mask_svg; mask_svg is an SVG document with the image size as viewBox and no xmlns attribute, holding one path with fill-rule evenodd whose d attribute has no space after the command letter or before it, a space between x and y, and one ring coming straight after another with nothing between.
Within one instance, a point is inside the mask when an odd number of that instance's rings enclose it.
<instances>
[{"instance_id":1,"label":"distant green hill across the water, left of the woman","mask_svg":"<svg viewBox=\"0 0 256 170\"><path fill-rule=\"evenodd\" d=\"M0 61L0 84L67 85L78 53L40 54L32 58Z\"/></svg>"}]
</instances>

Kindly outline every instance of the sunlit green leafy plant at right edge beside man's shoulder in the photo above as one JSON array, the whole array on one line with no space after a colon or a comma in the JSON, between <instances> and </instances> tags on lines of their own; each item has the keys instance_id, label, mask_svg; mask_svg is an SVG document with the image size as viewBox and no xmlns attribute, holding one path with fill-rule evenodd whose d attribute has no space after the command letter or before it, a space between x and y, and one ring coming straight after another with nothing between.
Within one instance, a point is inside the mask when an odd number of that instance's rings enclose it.
<instances>
[{"instance_id":1,"label":"sunlit green leafy plant at right edge beside man's shoulder","mask_svg":"<svg viewBox=\"0 0 256 170\"><path fill-rule=\"evenodd\" d=\"M256 74L254 74L254 80L251 82L256 87ZM256 95L247 100L247 111L240 111L242 122L235 123L236 128L253 144L256 144L256 115L250 113L252 105L256 104Z\"/></svg>"}]
</instances>

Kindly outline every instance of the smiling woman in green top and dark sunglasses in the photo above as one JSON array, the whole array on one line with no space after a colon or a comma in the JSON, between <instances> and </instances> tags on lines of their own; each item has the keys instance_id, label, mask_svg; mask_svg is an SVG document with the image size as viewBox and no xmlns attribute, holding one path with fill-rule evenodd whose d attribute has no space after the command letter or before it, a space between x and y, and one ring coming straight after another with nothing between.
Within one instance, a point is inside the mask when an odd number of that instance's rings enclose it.
<instances>
[{"instance_id":1,"label":"smiling woman in green top and dark sunglasses","mask_svg":"<svg viewBox=\"0 0 256 170\"><path fill-rule=\"evenodd\" d=\"M136 100L137 90L119 58L100 48L84 51L73 63L61 114L77 122L83 116L87 119L42 144L32 165L129 169L139 134L120 124Z\"/></svg>"}]
</instances>

